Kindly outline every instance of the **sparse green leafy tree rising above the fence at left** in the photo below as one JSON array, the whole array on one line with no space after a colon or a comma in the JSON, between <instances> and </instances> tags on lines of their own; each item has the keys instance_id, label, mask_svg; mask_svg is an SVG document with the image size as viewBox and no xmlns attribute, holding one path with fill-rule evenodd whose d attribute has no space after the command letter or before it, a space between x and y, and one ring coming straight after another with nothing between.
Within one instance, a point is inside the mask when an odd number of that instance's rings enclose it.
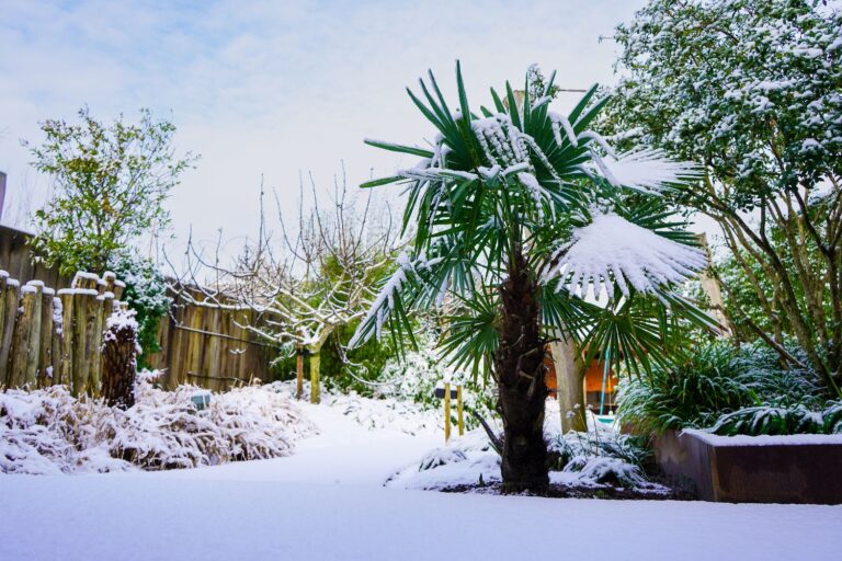
<instances>
[{"instance_id":1,"label":"sparse green leafy tree rising above the fence at left","mask_svg":"<svg viewBox=\"0 0 842 561\"><path fill-rule=\"evenodd\" d=\"M140 111L136 124L121 115L110 125L79 111L81 123L48 119L33 165L54 180L55 194L35 213L35 251L65 274L102 273L132 242L169 222L163 202L196 161L175 154L175 126Z\"/></svg>"}]
</instances>

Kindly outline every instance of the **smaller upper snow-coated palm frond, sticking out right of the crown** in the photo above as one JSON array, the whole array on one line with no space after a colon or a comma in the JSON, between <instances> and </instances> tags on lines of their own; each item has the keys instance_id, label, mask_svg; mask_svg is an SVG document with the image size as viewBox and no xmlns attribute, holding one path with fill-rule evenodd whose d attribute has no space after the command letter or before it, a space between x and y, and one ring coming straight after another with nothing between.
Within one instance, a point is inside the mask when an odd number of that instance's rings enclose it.
<instances>
[{"instance_id":1,"label":"smaller upper snow-coated palm frond, sticking out right of the crown","mask_svg":"<svg viewBox=\"0 0 842 561\"><path fill-rule=\"evenodd\" d=\"M671 184L698 178L699 169L691 162L670 160L663 150L644 148L616 157L594 156L594 163L614 186L644 193L659 193Z\"/></svg>"}]
</instances>

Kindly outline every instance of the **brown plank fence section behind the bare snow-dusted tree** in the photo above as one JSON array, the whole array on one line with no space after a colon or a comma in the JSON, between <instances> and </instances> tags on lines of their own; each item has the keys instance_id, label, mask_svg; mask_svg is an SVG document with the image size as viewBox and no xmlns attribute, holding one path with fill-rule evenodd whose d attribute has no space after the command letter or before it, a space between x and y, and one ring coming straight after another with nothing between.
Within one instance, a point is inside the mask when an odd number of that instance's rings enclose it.
<instances>
[{"instance_id":1,"label":"brown plank fence section behind the bare snow-dusted tree","mask_svg":"<svg viewBox=\"0 0 842 561\"><path fill-rule=\"evenodd\" d=\"M164 370L167 388L194 383L215 391L270 379L275 351L258 341L244 325L254 321L254 310L179 300L161 320L158 343L161 351L148 358L152 368Z\"/></svg>"}]
</instances>

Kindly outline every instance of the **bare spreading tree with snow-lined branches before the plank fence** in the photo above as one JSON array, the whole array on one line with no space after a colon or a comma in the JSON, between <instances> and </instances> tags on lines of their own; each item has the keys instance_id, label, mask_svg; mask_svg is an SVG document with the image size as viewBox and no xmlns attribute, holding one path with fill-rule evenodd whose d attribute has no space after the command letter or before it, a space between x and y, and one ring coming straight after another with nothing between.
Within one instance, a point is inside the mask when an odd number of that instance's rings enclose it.
<instances>
[{"instance_id":1,"label":"bare spreading tree with snow-lined branches before the plank fence","mask_svg":"<svg viewBox=\"0 0 842 561\"><path fill-rule=\"evenodd\" d=\"M230 265L219 248L208 255L191 239L184 273L172 283L186 301L247 306L253 321L241 325L258 337L297 355L297 394L301 397L304 357L310 363L310 401L320 400L319 353L338 328L362 319L376 297L375 285L403 244L388 204L349 193L344 169L334 178L333 196L319 201L309 178L312 205L304 204L301 182L297 224L284 220L274 193L280 239L268 227L261 184L257 240L247 242ZM205 273L203 280L201 273ZM209 273L209 275L207 274Z\"/></svg>"}]
</instances>

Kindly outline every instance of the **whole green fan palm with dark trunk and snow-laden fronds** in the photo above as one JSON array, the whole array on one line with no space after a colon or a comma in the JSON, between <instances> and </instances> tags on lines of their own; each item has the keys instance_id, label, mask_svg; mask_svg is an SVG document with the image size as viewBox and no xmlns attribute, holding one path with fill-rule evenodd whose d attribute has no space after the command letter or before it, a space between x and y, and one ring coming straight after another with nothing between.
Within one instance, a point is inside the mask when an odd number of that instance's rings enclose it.
<instances>
[{"instance_id":1,"label":"whole green fan palm with dark trunk and snow-laden fronds","mask_svg":"<svg viewBox=\"0 0 842 561\"><path fill-rule=\"evenodd\" d=\"M406 185L403 227L414 229L414 245L351 345L384 329L408 344L411 311L446 300L458 311L445 355L490 373L499 389L505 486L542 488L547 342L573 337L640 371L667 358L676 317L708 321L672 293L705 257L659 197L697 171L652 151L614 153L589 129L605 104L595 87L564 116L548 107L553 78L531 99L527 77L522 103L507 83L505 101L492 89L494 108L475 113L458 62L456 80L453 110L432 72L421 96L408 90L436 128L430 148L366 140L422 160L363 185Z\"/></svg>"}]
</instances>

